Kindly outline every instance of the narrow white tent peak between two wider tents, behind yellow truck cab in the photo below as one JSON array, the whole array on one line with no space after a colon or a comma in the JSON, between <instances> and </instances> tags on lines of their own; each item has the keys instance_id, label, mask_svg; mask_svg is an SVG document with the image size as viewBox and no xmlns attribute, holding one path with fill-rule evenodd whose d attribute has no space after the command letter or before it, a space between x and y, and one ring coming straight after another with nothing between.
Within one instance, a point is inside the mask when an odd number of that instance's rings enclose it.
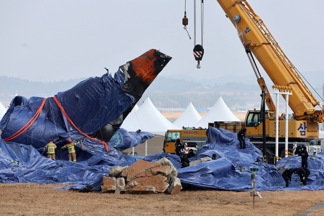
<instances>
[{"instance_id":1,"label":"narrow white tent peak between two wider tents, behind yellow truck cab","mask_svg":"<svg viewBox=\"0 0 324 216\"><path fill-rule=\"evenodd\" d=\"M197 112L197 110L193 107L192 103L188 105L188 107L184 110L184 112L176 119L173 124L179 128L184 127L192 127L194 123L199 121L201 116Z\"/></svg>"}]
</instances>

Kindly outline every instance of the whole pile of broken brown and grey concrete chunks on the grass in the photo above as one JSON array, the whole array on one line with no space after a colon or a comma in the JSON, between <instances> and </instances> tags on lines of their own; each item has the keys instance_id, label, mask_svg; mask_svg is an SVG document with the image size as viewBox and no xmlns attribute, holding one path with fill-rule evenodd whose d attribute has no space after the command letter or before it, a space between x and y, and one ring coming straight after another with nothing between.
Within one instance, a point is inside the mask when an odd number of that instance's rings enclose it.
<instances>
[{"instance_id":1,"label":"whole pile of broken brown and grey concrete chunks on the grass","mask_svg":"<svg viewBox=\"0 0 324 216\"><path fill-rule=\"evenodd\" d=\"M182 189L172 163L162 158L156 162L139 160L131 166L116 166L108 170L101 190L104 193L177 194Z\"/></svg>"}]
</instances>

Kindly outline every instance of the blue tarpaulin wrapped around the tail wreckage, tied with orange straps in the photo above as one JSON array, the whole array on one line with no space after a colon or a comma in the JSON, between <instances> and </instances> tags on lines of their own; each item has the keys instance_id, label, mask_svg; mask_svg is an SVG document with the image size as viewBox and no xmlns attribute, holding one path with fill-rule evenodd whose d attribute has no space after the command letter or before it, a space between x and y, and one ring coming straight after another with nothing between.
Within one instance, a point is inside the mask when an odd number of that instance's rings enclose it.
<instances>
[{"instance_id":1,"label":"blue tarpaulin wrapped around the tail wreckage, tied with orange straps","mask_svg":"<svg viewBox=\"0 0 324 216\"><path fill-rule=\"evenodd\" d=\"M55 95L73 123L85 134L90 135L104 127L127 108L134 97L123 91L125 74L120 70L114 78L110 74L89 78L72 89ZM23 128L40 108L43 98L29 100L17 96L0 121L1 137L8 138ZM16 143L44 147L49 139L54 141L78 138L80 133L68 121L54 98L47 98L44 107L33 124L21 135L11 139Z\"/></svg>"}]
</instances>

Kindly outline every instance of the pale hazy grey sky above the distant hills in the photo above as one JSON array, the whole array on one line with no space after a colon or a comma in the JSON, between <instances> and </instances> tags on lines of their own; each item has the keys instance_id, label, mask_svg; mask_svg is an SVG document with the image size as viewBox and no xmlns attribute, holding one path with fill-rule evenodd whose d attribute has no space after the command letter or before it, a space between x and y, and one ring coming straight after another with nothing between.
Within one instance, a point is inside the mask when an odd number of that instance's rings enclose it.
<instances>
[{"instance_id":1,"label":"pale hazy grey sky above the distant hills","mask_svg":"<svg viewBox=\"0 0 324 216\"><path fill-rule=\"evenodd\" d=\"M324 81L324 0L248 2L297 69L303 75L322 72ZM193 0L186 10L193 38ZM216 0L204 1L205 53L196 69L183 14L184 0L0 0L0 76L31 81L101 76L104 67L114 73L152 48L173 58L162 76L254 74ZM200 29L196 32L200 43Z\"/></svg>"}]
</instances>

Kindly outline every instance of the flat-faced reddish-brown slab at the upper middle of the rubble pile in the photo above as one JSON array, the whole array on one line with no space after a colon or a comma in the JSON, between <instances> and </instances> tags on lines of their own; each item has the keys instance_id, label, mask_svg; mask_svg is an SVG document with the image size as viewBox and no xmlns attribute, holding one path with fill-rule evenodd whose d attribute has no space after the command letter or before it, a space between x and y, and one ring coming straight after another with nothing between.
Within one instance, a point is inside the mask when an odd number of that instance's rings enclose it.
<instances>
[{"instance_id":1,"label":"flat-faced reddish-brown slab at the upper middle of the rubble pile","mask_svg":"<svg viewBox=\"0 0 324 216\"><path fill-rule=\"evenodd\" d=\"M155 166L160 166L160 163L138 160L128 167L127 182L138 177L146 176L146 171Z\"/></svg>"}]
</instances>

